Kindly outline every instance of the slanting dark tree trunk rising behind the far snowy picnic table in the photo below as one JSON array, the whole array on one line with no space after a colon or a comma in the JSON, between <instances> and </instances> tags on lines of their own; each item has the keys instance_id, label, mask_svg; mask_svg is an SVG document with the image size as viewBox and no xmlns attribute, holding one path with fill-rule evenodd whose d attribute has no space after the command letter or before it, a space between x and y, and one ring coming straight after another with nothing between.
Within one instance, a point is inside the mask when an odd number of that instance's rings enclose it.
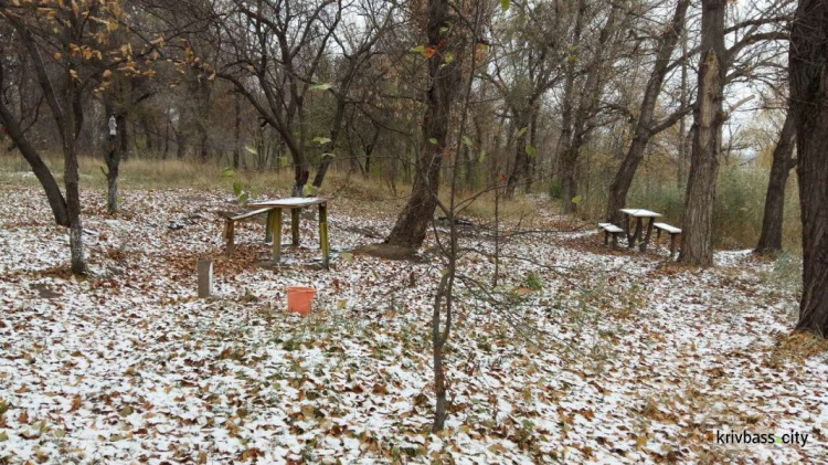
<instances>
[{"instance_id":1,"label":"slanting dark tree trunk rising behind the far snowy picnic table","mask_svg":"<svg viewBox=\"0 0 828 465\"><path fill-rule=\"evenodd\" d=\"M670 28L659 41L658 51L656 52L656 64L652 67L650 78L644 92L644 99L641 101L638 119L635 124L633 142L609 187L606 219L611 223L620 224L622 219L618 210L623 209L627 203L627 193L630 186L633 186L633 178L644 159L644 151L647 148L647 144L654 135L651 127L656 104L658 103L658 96L661 93L661 87L667 76L670 55L673 49L676 49L679 38L682 35L684 14L689 4L690 0L679 0L676 4L676 12L672 15Z\"/></svg>"}]
</instances>

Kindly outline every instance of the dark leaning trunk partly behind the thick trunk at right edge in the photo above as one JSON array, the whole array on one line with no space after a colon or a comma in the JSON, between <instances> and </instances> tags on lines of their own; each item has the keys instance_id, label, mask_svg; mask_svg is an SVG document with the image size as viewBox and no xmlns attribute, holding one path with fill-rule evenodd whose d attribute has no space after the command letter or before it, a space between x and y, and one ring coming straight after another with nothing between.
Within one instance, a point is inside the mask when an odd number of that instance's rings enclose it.
<instances>
[{"instance_id":1,"label":"dark leaning trunk partly behind the thick trunk at right edge","mask_svg":"<svg viewBox=\"0 0 828 465\"><path fill-rule=\"evenodd\" d=\"M793 160L796 125L788 112L779 133L779 141L774 149L774 161L771 166L771 179L765 195L765 214L762 218L762 234L756 245L757 253L777 253L782 251L782 225L785 213L785 184L790 169L796 166Z\"/></svg>"}]
</instances>

